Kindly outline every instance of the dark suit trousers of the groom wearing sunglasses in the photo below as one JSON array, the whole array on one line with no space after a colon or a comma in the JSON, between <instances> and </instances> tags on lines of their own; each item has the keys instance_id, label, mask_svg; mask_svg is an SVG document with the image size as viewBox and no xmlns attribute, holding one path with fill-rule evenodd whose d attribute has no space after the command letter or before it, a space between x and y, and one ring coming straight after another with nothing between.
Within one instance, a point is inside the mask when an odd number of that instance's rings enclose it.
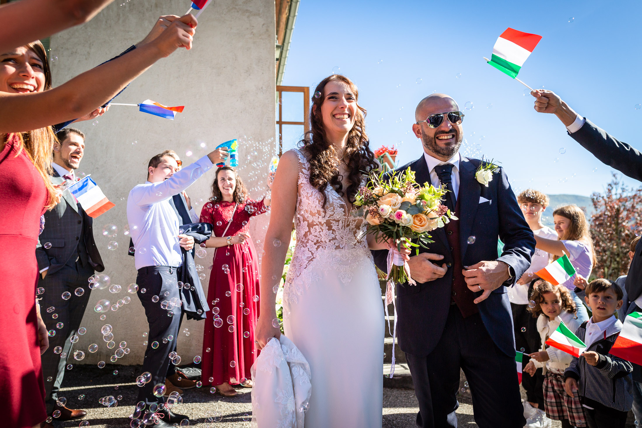
<instances>
[{"instance_id":1,"label":"dark suit trousers of the groom wearing sunglasses","mask_svg":"<svg viewBox=\"0 0 642 428\"><path fill-rule=\"evenodd\" d=\"M479 314L464 318L451 305L444 333L427 357L406 354L415 395L417 426L457 426L459 370L471 388L475 422L480 428L522 428L526 424L515 359L499 350Z\"/></svg>"}]
</instances>

